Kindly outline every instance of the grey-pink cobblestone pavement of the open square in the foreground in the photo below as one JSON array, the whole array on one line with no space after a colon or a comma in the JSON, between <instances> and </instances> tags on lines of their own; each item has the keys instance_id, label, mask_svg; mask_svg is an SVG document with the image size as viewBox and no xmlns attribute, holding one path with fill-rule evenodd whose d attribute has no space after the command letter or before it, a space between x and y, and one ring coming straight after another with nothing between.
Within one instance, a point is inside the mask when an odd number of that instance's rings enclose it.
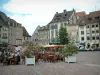
<instances>
[{"instance_id":1,"label":"grey-pink cobblestone pavement of the open square in the foreground","mask_svg":"<svg viewBox=\"0 0 100 75\"><path fill-rule=\"evenodd\" d=\"M34 66L0 65L0 75L100 75L100 52L81 52L77 63L43 63Z\"/></svg>"}]
</instances>

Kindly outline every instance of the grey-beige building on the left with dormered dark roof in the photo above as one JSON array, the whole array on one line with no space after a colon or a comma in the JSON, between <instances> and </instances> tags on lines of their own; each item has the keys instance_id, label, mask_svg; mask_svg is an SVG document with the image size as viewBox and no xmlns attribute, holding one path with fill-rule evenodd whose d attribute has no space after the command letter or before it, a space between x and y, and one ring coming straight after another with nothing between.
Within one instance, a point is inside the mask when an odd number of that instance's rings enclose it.
<instances>
[{"instance_id":1,"label":"grey-beige building on the left with dormered dark roof","mask_svg":"<svg viewBox=\"0 0 100 75\"><path fill-rule=\"evenodd\" d=\"M8 19L8 25L9 25L9 44L21 45L23 38L22 25L10 18Z\"/></svg>"}]
</instances>

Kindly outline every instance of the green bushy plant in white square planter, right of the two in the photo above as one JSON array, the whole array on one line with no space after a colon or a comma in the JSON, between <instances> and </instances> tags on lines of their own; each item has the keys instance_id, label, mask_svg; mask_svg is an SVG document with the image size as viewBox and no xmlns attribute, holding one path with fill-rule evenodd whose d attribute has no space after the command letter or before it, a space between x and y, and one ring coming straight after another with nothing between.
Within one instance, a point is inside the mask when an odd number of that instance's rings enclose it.
<instances>
[{"instance_id":1,"label":"green bushy plant in white square planter, right of the two","mask_svg":"<svg viewBox=\"0 0 100 75\"><path fill-rule=\"evenodd\" d=\"M67 44L64 46L61 53L65 57L65 62L76 62L75 54L78 53L78 48L73 44Z\"/></svg>"}]
</instances>

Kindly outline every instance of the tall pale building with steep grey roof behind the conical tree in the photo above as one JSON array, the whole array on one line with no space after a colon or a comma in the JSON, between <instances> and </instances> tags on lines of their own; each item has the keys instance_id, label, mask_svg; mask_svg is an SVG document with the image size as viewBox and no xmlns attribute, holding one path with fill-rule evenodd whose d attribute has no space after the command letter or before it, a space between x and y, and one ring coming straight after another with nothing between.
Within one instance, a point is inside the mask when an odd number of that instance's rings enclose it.
<instances>
[{"instance_id":1,"label":"tall pale building with steep grey roof behind the conical tree","mask_svg":"<svg viewBox=\"0 0 100 75\"><path fill-rule=\"evenodd\" d=\"M76 25L76 16L75 10L67 11L64 10L62 13L56 12L51 22L48 24L50 29L50 43L59 43L57 42L59 29L61 26L67 28L67 32L70 37L77 35L77 25ZM75 27L75 30L70 30ZM73 32L74 31L74 32ZM75 33L76 32L76 33ZM73 35L75 33L75 35ZM76 37L75 37L76 38Z\"/></svg>"}]
</instances>

